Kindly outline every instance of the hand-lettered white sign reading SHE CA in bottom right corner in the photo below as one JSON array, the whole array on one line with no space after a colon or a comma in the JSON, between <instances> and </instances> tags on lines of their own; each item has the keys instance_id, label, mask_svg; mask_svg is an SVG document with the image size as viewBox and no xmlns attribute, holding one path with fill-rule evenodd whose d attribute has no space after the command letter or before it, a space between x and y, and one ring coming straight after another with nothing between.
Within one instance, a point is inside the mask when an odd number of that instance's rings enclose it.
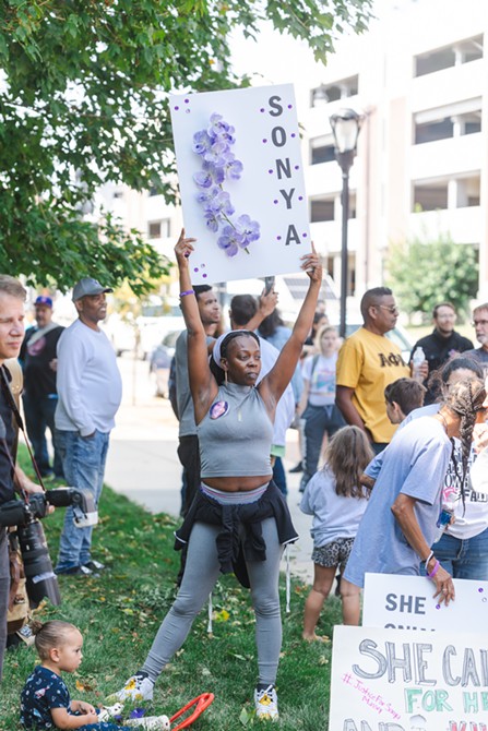
<instances>
[{"instance_id":1,"label":"hand-lettered white sign reading SHE CA in bottom right corner","mask_svg":"<svg viewBox=\"0 0 488 731\"><path fill-rule=\"evenodd\" d=\"M334 627L329 731L488 731L488 635Z\"/></svg>"}]
</instances>

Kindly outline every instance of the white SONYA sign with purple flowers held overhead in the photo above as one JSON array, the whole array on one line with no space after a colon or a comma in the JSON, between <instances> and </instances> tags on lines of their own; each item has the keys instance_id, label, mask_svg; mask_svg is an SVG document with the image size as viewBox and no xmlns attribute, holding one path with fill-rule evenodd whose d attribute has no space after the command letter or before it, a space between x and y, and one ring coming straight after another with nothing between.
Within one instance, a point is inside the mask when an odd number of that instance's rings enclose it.
<instances>
[{"instance_id":1,"label":"white SONYA sign with purple flowers held overhead","mask_svg":"<svg viewBox=\"0 0 488 731\"><path fill-rule=\"evenodd\" d=\"M169 104L193 284L298 272L311 242L293 85Z\"/></svg>"}]
</instances>

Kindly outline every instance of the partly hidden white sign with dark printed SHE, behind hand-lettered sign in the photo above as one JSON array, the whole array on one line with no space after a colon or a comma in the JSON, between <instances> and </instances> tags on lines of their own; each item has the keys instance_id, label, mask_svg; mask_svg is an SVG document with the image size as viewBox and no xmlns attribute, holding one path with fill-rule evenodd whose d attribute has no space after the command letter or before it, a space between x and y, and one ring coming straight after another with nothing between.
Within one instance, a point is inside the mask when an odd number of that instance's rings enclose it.
<instances>
[{"instance_id":1,"label":"partly hidden white sign with dark printed SHE, behind hand-lettered sign","mask_svg":"<svg viewBox=\"0 0 488 731\"><path fill-rule=\"evenodd\" d=\"M488 632L488 582L455 578L455 600L433 599L433 582L425 576L366 574L362 626L443 632Z\"/></svg>"}]
</instances>

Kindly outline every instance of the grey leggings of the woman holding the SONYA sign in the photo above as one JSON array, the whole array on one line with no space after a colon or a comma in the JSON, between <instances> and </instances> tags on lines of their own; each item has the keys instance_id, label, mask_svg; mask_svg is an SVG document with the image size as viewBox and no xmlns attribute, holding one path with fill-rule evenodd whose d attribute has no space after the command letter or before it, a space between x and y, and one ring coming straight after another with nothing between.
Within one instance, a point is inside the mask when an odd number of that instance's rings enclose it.
<instances>
[{"instance_id":1,"label":"grey leggings of the woman holding the SONYA sign","mask_svg":"<svg viewBox=\"0 0 488 731\"><path fill-rule=\"evenodd\" d=\"M266 560L248 562L247 567L255 613L259 682L271 684L276 681L282 648L278 594L282 546L275 519L266 518L261 525L266 543ZM218 526L206 523L195 523L192 528L180 590L141 668L153 682L156 682L165 664L186 640L193 620L216 584L221 567L215 539L219 530Z\"/></svg>"}]
</instances>

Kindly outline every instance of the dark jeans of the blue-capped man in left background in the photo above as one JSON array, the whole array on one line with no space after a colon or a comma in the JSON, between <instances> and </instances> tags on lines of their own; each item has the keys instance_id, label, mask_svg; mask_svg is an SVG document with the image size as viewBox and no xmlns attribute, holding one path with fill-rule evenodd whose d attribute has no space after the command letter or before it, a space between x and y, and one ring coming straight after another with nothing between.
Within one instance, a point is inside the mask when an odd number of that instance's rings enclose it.
<instances>
[{"instance_id":1,"label":"dark jeans of the blue-capped man in left background","mask_svg":"<svg viewBox=\"0 0 488 731\"><path fill-rule=\"evenodd\" d=\"M25 426L28 439L34 451L34 459L41 476L51 474L49 453L47 451L46 429L51 432L52 447L55 450L53 470L56 477L63 477L62 460L56 443L55 411L58 397L44 396L43 398L29 398L28 394L23 396Z\"/></svg>"}]
</instances>

